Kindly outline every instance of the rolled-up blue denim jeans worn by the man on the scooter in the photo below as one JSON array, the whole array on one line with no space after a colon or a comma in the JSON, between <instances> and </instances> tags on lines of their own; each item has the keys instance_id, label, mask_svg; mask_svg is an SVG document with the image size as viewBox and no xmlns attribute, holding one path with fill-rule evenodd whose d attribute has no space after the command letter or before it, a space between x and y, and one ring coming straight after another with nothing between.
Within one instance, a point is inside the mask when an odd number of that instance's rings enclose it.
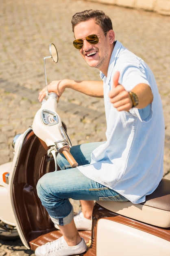
<instances>
[{"instance_id":1,"label":"rolled-up blue denim jeans worn by the man on the scooter","mask_svg":"<svg viewBox=\"0 0 170 256\"><path fill-rule=\"evenodd\" d=\"M73 146L70 150L79 165L91 162L91 153L104 142L94 142ZM66 225L74 217L69 198L74 200L110 200L128 201L122 195L83 175L78 168L70 168L68 161L61 154L57 163L62 169L46 173L37 183L37 194L42 205L57 225Z\"/></svg>"}]
</instances>

